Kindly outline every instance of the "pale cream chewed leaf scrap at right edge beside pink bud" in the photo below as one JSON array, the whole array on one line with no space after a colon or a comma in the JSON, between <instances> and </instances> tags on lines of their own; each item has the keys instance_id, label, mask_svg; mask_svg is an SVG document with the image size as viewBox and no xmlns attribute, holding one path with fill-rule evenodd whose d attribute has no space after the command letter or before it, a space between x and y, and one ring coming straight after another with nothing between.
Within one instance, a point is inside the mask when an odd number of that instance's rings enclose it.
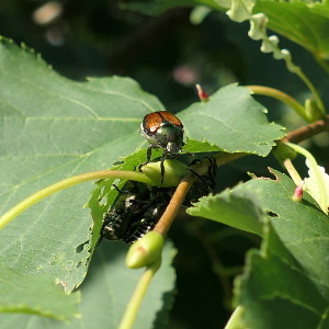
<instances>
[{"instance_id":1,"label":"pale cream chewed leaf scrap at right edge beside pink bud","mask_svg":"<svg viewBox=\"0 0 329 329\"><path fill-rule=\"evenodd\" d=\"M318 175L316 174L315 170L310 167L309 161L306 159L306 166L309 168L308 175L304 180L305 182L305 191L308 192L313 198L320 204L320 198L324 197L322 191L319 189ZM326 172L324 167L317 166L318 172L320 173L320 179L325 182L325 196L326 196L326 204L324 204L322 211L328 213L329 207L329 175Z\"/></svg>"}]
</instances>

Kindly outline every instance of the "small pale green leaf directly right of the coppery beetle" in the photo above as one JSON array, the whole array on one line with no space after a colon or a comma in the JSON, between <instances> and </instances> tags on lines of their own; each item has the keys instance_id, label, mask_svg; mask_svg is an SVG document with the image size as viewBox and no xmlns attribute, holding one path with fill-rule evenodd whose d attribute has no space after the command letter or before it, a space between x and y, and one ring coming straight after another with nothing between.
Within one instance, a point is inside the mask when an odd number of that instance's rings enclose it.
<instances>
[{"instance_id":1,"label":"small pale green leaf directly right of the coppery beetle","mask_svg":"<svg viewBox=\"0 0 329 329\"><path fill-rule=\"evenodd\" d=\"M226 152L264 157L274 140L284 136L283 127L269 124L264 113L265 109L247 88L230 84L214 93L208 102L195 103L178 116L189 138L215 144Z\"/></svg>"}]
</instances>

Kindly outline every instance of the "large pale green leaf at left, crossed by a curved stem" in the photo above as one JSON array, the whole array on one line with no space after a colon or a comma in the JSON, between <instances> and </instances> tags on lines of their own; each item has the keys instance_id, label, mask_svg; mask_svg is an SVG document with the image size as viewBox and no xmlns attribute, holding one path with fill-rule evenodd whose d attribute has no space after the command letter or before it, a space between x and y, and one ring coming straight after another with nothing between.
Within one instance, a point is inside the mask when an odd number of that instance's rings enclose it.
<instances>
[{"instance_id":1,"label":"large pale green leaf at left, crossed by a curved stem","mask_svg":"<svg viewBox=\"0 0 329 329\"><path fill-rule=\"evenodd\" d=\"M39 189L107 169L146 145L140 121L163 110L132 79L70 81L31 49L5 39L0 43L0 70L1 213ZM90 260L92 220L82 207L91 190L84 183L57 193L4 227L0 263L21 274L48 273L68 291L79 285Z\"/></svg>"}]
</instances>

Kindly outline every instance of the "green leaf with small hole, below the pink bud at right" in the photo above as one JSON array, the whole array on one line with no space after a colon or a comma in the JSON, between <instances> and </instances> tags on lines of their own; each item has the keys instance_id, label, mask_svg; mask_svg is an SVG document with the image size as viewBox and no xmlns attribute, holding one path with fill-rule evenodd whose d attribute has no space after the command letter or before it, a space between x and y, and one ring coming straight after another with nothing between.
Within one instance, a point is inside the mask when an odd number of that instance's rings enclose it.
<instances>
[{"instance_id":1,"label":"green leaf with small hole, below the pink bud at right","mask_svg":"<svg viewBox=\"0 0 329 329\"><path fill-rule=\"evenodd\" d=\"M294 202L295 184L273 171L276 180L254 179L239 186L242 191L261 191L263 207L285 248L329 300L329 217L305 193L303 203Z\"/></svg>"}]
</instances>

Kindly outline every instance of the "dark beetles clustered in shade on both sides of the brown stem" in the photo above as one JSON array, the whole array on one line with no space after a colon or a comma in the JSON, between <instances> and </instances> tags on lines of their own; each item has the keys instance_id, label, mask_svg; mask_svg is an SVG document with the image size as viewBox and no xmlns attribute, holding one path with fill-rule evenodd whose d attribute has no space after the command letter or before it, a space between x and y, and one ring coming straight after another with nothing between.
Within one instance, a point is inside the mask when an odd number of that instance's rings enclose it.
<instances>
[{"instance_id":1,"label":"dark beetles clustered in shade on both sides of the brown stem","mask_svg":"<svg viewBox=\"0 0 329 329\"><path fill-rule=\"evenodd\" d=\"M215 184L216 161L207 158L207 174L197 175L183 205L191 206L200 197L207 195ZM194 164L193 161L191 164ZM118 190L109 212L104 214L101 239L123 240L133 243L151 230L164 213L174 188L156 188L144 183L127 181Z\"/></svg>"}]
</instances>

